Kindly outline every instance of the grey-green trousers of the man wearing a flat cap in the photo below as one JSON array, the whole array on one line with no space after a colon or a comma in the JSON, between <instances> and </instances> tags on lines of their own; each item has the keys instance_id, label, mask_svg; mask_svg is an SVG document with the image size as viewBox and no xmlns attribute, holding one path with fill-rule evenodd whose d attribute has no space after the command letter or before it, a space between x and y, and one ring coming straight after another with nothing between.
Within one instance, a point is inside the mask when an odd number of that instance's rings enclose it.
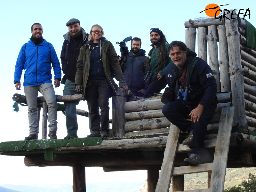
<instances>
[{"instance_id":1,"label":"grey-green trousers of the man wearing a flat cap","mask_svg":"<svg viewBox=\"0 0 256 192\"><path fill-rule=\"evenodd\" d=\"M75 95L78 94L76 92L75 83L72 81L66 80L63 95ZM77 137L77 118L76 118L76 105L78 105L79 101L69 101L64 102L65 106L65 114L66 114L66 126L67 126L67 136Z\"/></svg>"}]
</instances>

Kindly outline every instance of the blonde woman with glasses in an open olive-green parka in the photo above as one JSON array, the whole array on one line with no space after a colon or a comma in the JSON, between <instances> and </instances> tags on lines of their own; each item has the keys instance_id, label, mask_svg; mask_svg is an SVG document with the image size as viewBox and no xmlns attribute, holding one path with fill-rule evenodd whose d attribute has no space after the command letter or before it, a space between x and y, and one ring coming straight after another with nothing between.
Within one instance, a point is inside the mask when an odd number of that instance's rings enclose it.
<instances>
[{"instance_id":1,"label":"blonde woman with glasses in an open olive-green parka","mask_svg":"<svg viewBox=\"0 0 256 192\"><path fill-rule=\"evenodd\" d=\"M108 137L108 99L118 89L111 71L119 81L119 87L128 89L115 48L103 35L100 25L92 26L88 42L81 47L76 63L76 91L82 91L83 99L87 100L91 120L92 133L87 137Z\"/></svg>"}]
</instances>

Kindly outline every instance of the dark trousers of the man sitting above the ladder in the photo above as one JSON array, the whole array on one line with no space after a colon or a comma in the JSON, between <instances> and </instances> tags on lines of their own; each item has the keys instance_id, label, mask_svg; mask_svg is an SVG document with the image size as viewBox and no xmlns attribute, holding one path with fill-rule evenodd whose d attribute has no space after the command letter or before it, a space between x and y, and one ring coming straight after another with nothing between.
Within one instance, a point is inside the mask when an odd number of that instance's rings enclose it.
<instances>
[{"instance_id":1,"label":"dark trousers of the man sitting above the ladder","mask_svg":"<svg viewBox=\"0 0 256 192\"><path fill-rule=\"evenodd\" d=\"M207 108L204 108L202 115L198 122L194 123L187 120L190 118L188 114L197 106L186 106L182 101L176 100L167 103L162 108L164 116L174 125L176 125L183 132L193 131L193 138L189 148L192 150L190 154L202 155L204 151L204 139L207 131L207 125L211 121L217 101L211 103Z\"/></svg>"}]
</instances>

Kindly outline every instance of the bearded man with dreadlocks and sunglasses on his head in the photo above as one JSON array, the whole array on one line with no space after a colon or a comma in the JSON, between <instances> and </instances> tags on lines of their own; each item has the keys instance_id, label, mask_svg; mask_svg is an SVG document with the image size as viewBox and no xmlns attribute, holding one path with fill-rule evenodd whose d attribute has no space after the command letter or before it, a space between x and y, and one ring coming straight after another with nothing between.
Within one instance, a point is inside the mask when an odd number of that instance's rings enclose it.
<instances>
[{"instance_id":1,"label":"bearded man with dreadlocks and sunglasses on his head","mask_svg":"<svg viewBox=\"0 0 256 192\"><path fill-rule=\"evenodd\" d=\"M168 53L168 42L165 39L163 32L159 28L150 29L150 41L152 49L148 53L147 67L148 75L151 76L147 79L149 83L143 97L153 96L154 93L160 92L167 85L164 78L167 65L171 62Z\"/></svg>"}]
</instances>

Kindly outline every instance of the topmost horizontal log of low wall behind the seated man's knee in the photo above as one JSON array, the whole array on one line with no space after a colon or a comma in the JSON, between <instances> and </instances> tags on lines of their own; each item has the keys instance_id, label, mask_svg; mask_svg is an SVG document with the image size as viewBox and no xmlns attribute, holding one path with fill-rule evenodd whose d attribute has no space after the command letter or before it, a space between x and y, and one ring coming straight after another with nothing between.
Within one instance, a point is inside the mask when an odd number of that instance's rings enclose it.
<instances>
[{"instance_id":1,"label":"topmost horizontal log of low wall behind the seated man's knee","mask_svg":"<svg viewBox=\"0 0 256 192\"><path fill-rule=\"evenodd\" d=\"M163 106L164 106L164 103L161 102L161 99L155 99L155 100L141 99L139 101L126 102L124 104L124 110L126 113L128 113L128 112L135 112L135 111L162 109Z\"/></svg>"}]
</instances>

